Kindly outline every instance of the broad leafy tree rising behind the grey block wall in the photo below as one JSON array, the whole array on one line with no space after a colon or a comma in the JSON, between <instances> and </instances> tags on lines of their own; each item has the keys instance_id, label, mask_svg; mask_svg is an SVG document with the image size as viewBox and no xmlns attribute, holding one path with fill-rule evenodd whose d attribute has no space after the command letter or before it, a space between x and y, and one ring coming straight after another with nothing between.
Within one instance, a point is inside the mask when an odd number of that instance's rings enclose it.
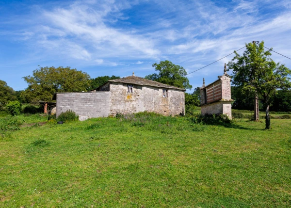
<instances>
[{"instance_id":1,"label":"broad leafy tree rising behind the grey block wall","mask_svg":"<svg viewBox=\"0 0 291 208\"><path fill-rule=\"evenodd\" d=\"M23 100L38 102L51 100L54 93L81 92L90 86L90 76L70 67L39 67L32 76L23 77L28 88L21 93Z\"/></svg>"}]
</instances>

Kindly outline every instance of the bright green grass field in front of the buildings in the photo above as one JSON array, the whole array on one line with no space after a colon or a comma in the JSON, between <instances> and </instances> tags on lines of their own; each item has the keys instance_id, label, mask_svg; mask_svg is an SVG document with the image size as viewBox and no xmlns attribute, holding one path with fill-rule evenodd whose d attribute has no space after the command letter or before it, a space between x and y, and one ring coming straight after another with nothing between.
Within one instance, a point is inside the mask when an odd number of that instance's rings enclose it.
<instances>
[{"instance_id":1,"label":"bright green grass field in front of the buildings","mask_svg":"<svg viewBox=\"0 0 291 208\"><path fill-rule=\"evenodd\" d=\"M19 130L0 131L3 208L291 207L290 119L13 119Z\"/></svg>"}]
</instances>

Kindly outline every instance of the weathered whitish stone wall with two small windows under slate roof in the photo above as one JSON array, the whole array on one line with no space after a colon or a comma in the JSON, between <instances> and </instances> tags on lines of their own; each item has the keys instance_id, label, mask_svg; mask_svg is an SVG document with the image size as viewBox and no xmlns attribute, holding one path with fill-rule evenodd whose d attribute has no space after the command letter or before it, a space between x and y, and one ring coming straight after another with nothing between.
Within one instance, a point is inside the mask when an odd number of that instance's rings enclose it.
<instances>
[{"instance_id":1,"label":"weathered whitish stone wall with two small windows under slate roof","mask_svg":"<svg viewBox=\"0 0 291 208\"><path fill-rule=\"evenodd\" d=\"M162 97L162 89L158 87L133 85L133 93L128 93L126 83L110 84L110 114L113 116L144 111L176 115L184 109L184 91L168 89L168 97Z\"/></svg>"}]
</instances>

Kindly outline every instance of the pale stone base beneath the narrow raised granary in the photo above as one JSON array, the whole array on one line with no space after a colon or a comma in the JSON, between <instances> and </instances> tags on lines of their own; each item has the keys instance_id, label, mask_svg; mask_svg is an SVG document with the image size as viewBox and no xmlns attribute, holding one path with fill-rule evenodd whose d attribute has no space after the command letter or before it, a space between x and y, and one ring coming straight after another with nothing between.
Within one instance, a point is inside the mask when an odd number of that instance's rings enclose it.
<instances>
[{"instance_id":1,"label":"pale stone base beneath the narrow raised granary","mask_svg":"<svg viewBox=\"0 0 291 208\"><path fill-rule=\"evenodd\" d=\"M231 119L231 101L218 101L201 106L201 114L227 114Z\"/></svg>"}]
</instances>

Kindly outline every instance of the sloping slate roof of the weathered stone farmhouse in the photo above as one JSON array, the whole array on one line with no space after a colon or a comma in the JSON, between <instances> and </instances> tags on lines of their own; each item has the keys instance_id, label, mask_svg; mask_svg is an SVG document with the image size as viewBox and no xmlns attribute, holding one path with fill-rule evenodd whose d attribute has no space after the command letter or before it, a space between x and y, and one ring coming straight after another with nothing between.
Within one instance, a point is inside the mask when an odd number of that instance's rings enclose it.
<instances>
[{"instance_id":1,"label":"sloping slate roof of the weathered stone farmhouse","mask_svg":"<svg viewBox=\"0 0 291 208\"><path fill-rule=\"evenodd\" d=\"M116 79L116 80L109 80L112 82L121 82L121 83L129 83L129 84L137 84L137 85L146 85L146 86L153 86L153 87L160 87L160 88L169 88L169 89L176 89L176 90L183 90L185 91L185 89L181 89L178 87L174 87L171 85L167 85L167 84L163 84L161 82L158 81L153 81L153 80L147 80L141 77L136 77L136 76L129 76L129 77L124 77L124 78L120 78L120 79Z\"/></svg>"}]
</instances>

